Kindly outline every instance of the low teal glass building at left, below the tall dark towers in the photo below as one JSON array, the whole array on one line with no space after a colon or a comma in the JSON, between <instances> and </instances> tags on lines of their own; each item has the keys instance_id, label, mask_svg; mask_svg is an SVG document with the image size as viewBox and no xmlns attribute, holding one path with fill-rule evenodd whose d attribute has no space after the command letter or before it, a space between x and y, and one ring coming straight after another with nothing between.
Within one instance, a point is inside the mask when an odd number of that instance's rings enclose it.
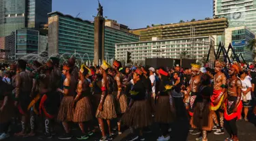
<instances>
[{"instance_id":1,"label":"low teal glass building at left, below the tall dark towers","mask_svg":"<svg viewBox=\"0 0 256 141\"><path fill-rule=\"evenodd\" d=\"M15 58L21 58L27 54L38 53L39 31L16 30Z\"/></svg>"}]
</instances>

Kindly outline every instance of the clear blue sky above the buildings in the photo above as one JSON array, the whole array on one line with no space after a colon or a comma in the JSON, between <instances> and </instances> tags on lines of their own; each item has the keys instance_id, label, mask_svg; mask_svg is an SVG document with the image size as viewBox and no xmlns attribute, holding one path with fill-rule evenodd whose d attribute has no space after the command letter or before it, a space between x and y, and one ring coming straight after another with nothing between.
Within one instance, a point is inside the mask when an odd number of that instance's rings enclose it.
<instances>
[{"instance_id":1,"label":"clear blue sky above the buildings","mask_svg":"<svg viewBox=\"0 0 256 141\"><path fill-rule=\"evenodd\" d=\"M100 0L104 16L129 28L212 17L212 0ZM53 0L53 11L94 20L97 0Z\"/></svg>"}]
</instances>

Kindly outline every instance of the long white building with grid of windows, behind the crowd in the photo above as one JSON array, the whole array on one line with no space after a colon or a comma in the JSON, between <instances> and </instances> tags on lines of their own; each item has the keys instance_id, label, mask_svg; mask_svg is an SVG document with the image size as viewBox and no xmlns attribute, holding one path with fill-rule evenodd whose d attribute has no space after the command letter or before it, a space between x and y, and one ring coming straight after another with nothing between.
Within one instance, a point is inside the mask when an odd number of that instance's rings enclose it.
<instances>
[{"instance_id":1,"label":"long white building with grid of windows, behind the crowd","mask_svg":"<svg viewBox=\"0 0 256 141\"><path fill-rule=\"evenodd\" d=\"M188 58L200 60L208 54L211 43L214 45L212 36L117 43L115 59L126 60L126 52L131 52L132 62L145 58L181 58L182 52L186 52Z\"/></svg>"}]
</instances>

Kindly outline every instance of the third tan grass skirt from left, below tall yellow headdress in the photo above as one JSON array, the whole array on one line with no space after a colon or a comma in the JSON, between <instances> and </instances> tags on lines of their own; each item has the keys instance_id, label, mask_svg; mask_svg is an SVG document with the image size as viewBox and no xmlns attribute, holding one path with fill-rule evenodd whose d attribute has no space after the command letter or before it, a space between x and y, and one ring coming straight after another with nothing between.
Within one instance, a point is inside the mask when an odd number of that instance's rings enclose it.
<instances>
[{"instance_id":1,"label":"third tan grass skirt from left, below tall yellow headdress","mask_svg":"<svg viewBox=\"0 0 256 141\"><path fill-rule=\"evenodd\" d=\"M98 119L115 119L117 113L115 112L115 98L112 94L108 94L103 103L103 110L97 110L96 118Z\"/></svg>"}]
</instances>

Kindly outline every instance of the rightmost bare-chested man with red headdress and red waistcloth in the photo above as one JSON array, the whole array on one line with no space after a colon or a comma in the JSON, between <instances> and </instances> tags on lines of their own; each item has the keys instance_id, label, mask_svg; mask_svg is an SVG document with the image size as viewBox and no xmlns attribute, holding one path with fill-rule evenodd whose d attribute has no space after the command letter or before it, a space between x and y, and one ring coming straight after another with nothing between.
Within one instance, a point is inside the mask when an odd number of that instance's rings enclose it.
<instances>
[{"instance_id":1,"label":"rightmost bare-chested man with red headdress and red waistcloth","mask_svg":"<svg viewBox=\"0 0 256 141\"><path fill-rule=\"evenodd\" d=\"M238 78L240 66L233 64L229 69L230 78L227 81L227 100L225 101L224 126L229 134L225 141L238 141L238 127L236 121L241 117L242 111L242 82Z\"/></svg>"}]
</instances>

